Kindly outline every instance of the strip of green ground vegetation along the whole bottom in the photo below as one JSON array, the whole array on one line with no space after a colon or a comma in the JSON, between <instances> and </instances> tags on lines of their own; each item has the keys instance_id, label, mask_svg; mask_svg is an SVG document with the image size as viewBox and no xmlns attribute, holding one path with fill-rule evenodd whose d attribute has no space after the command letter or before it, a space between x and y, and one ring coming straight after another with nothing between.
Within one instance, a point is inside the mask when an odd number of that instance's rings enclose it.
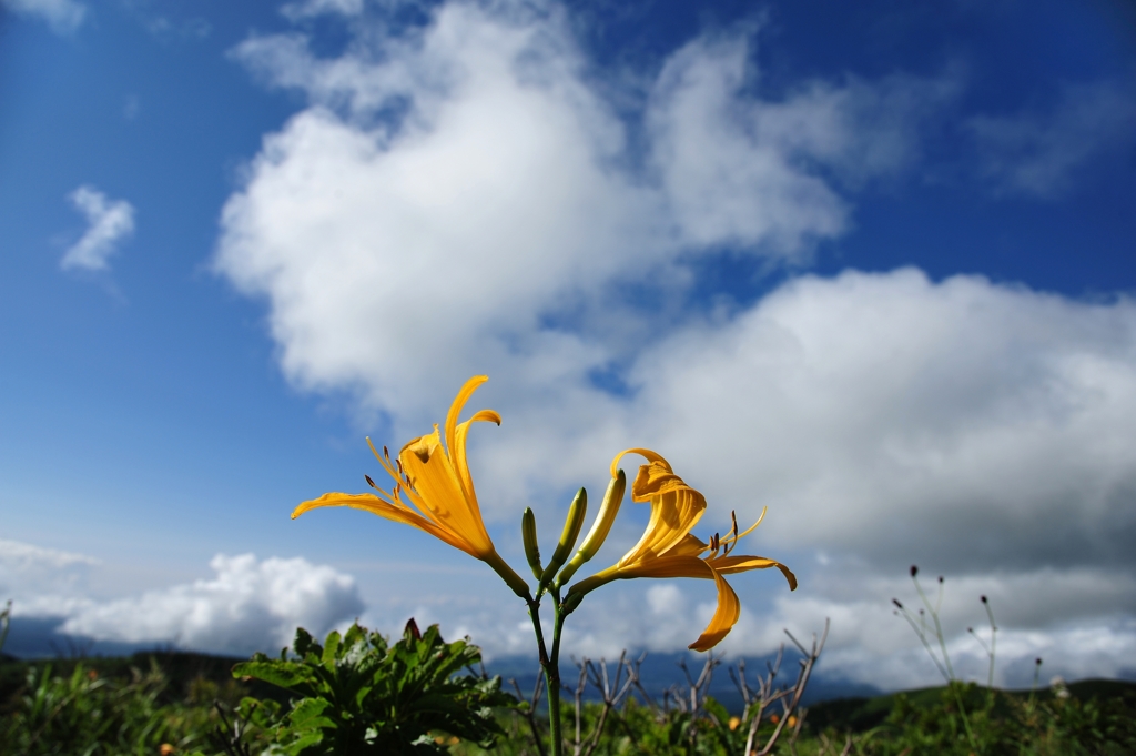
<instances>
[{"instance_id":1,"label":"strip of green ground vegetation along the whole bottom","mask_svg":"<svg viewBox=\"0 0 1136 756\"><path fill-rule=\"evenodd\" d=\"M1118 681L1017 692L951 682L802 708L807 671L822 645L797 645L803 664L793 686L774 684L778 663L757 681L744 664L733 667L741 712L727 712L707 692L717 658L707 657L700 673L687 674L661 698L638 683L642 658L615 665L584 659L576 684L562 690L565 751L742 756L749 746L751 753L800 756L1136 753L1136 684ZM540 715L542 683L531 695L504 693L499 679L474 668L475 646L446 643L436 626L419 633L410 623L393 643L358 625L323 643L301 630L292 653L234 662L179 653L50 663L7 657L0 664L0 753L550 753L548 720Z\"/></svg>"}]
</instances>

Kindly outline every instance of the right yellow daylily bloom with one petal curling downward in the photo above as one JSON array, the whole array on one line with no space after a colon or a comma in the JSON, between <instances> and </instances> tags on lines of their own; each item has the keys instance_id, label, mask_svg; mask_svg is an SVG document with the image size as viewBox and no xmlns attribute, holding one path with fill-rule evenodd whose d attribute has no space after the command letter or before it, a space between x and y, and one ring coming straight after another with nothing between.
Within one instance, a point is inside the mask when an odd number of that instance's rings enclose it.
<instances>
[{"instance_id":1,"label":"right yellow daylily bloom with one petal curling downward","mask_svg":"<svg viewBox=\"0 0 1136 756\"><path fill-rule=\"evenodd\" d=\"M635 482L632 484L633 501L651 502L651 520L638 543L623 556L616 564L583 580L568 590L566 601L574 596L583 597L600 585L612 580L630 578L704 578L713 580L718 587L718 608L710 624L690 648L705 651L713 648L726 637L737 623L742 614L742 604L737 593L726 582L724 575L730 575L747 570L766 570L777 567L785 575L790 588L796 590L796 576L788 567L765 557L732 556L734 546L743 535L752 532L766 516L743 533L737 532L737 520L726 538L717 534L704 543L691 534L691 529L705 512L705 498L682 477L675 474L670 464L650 449L627 449L616 455L611 462L611 475L617 474L619 460L627 454L637 454L649 462L642 465ZM702 555L705 556L702 556ZM578 598L576 601L578 603Z\"/></svg>"}]
</instances>

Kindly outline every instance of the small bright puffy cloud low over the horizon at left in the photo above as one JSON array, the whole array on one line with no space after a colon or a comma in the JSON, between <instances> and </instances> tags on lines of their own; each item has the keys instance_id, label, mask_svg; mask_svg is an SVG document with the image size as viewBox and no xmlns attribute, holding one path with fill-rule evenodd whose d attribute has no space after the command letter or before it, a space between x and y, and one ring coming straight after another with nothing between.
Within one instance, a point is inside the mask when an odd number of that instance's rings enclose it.
<instances>
[{"instance_id":1,"label":"small bright puffy cloud low over the horizon at left","mask_svg":"<svg viewBox=\"0 0 1136 756\"><path fill-rule=\"evenodd\" d=\"M212 580L73 610L59 632L97 640L173 642L214 653L273 651L296 626L321 634L362 612L354 579L302 558L217 555Z\"/></svg>"}]
</instances>

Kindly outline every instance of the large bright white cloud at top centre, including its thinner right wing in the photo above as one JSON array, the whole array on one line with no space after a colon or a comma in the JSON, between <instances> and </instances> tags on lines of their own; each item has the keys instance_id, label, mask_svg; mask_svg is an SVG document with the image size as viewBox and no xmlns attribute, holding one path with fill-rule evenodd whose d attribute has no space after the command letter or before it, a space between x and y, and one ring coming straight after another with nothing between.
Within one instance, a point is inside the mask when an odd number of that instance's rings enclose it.
<instances>
[{"instance_id":1,"label":"large bright white cloud at top centre, including its thinner right wing","mask_svg":"<svg viewBox=\"0 0 1136 756\"><path fill-rule=\"evenodd\" d=\"M242 291L268 298L299 385L351 387L389 409L436 406L470 365L520 358L576 380L649 337L621 283L646 282L679 305L682 255L740 243L796 258L843 227L844 203L813 167L851 172L870 152L854 126L875 106L853 107L869 86L767 103L732 78L743 39L690 47L651 97L644 173L629 167L626 126L590 85L562 14L545 10L450 3L420 32L364 35L331 59L294 35L235 50L312 100L266 139L225 207L216 258ZM682 84L691 77L716 90L709 114ZM735 133L727 106L762 131ZM813 121L783 158L794 124ZM883 130L862 171L902 161L883 147L897 131ZM696 153L716 156L712 175L695 171ZM699 192L719 180L730 206L704 216ZM542 327L565 315L602 338Z\"/></svg>"}]
</instances>

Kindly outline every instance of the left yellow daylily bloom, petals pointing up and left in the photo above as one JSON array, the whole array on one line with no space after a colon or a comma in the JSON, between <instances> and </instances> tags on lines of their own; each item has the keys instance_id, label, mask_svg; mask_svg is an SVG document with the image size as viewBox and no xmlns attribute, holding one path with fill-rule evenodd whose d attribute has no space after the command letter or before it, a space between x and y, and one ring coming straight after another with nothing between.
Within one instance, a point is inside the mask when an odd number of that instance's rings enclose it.
<instances>
[{"instance_id":1,"label":"left yellow daylily bloom, petals pointing up and left","mask_svg":"<svg viewBox=\"0 0 1136 756\"><path fill-rule=\"evenodd\" d=\"M501 416L492 409L482 409L466 422L458 423L469 397L487 380L484 375L476 375L461 387L445 417L444 446L437 425L434 425L433 433L409 441L392 462L386 447L381 455L367 439L379 464L394 479L394 488L390 491L377 487L368 475L367 482L377 493L325 493L298 506L292 512L292 520L319 507L352 507L406 523L485 562L518 596L527 597L528 584L498 555L485 531L474 480L466 462L466 437L470 424L488 421L500 425Z\"/></svg>"}]
</instances>

